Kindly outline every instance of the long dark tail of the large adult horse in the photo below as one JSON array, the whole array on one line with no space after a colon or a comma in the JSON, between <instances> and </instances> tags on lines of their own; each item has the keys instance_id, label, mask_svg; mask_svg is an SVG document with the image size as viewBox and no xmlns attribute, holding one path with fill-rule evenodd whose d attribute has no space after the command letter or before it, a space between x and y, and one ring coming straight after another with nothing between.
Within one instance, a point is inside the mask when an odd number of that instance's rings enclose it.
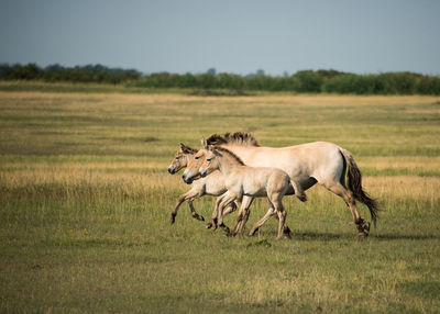
<instances>
[{"instance_id":1,"label":"long dark tail of the large adult horse","mask_svg":"<svg viewBox=\"0 0 440 314\"><path fill-rule=\"evenodd\" d=\"M376 225L376 218L377 218L377 212L380 211L380 208L377 205L377 201L375 199L372 199L365 191L362 189L362 173L361 170L359 169L356 162L354 161L353 156L350 154L350 152L340 148L340 152L345 159L346 162L346 178L348 178L348 188L349 190L353 193L354 199L358 201L364 203L369 210L370 214L372 217L372 221L374 225Z\"/></svg>"}]
</instances>

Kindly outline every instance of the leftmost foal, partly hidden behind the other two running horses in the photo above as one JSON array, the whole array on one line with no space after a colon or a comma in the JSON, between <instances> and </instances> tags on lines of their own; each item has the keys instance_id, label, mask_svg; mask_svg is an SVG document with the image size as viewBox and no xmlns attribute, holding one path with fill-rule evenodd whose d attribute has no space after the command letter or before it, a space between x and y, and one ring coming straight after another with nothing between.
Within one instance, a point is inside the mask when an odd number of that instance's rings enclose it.
<instances>
[{"instance_id":1,"label":"leftmost foal, partly hidden behind the other two running horses","mask_svg":"<svg viewBox=\"0 0 440 314\"><path fill-rule=\"evenodd\" d=\"M180 169L185 168L189 164L189 161L193 159L193 157L196 153L197 153L197 150L195 150L188 146L185 146L184 144L180 143L180 148L174 155L174 159L168 167L168 172L174 175L174 173L178 172ZM196 179L196 178L194 178L194 179ZM174 224L174 222L176 220L177 211L178 211L179 206L182 205L182 203L185 201L188 201L188 205L191 211L191 216L198 221L205 221L204 216L199 215L196 212L196 210L194 209L193 201L196 199L199 199L204 195L219 197L219 195L223 194L226 191L227 191L227 189L224 187L224 179L223 179L223 176L219 171L216 171L209 178L200 178L200 179L194 181L191 189L188 192L186 192L185 194L182 194L177 199L177 204L172 212L170 223ZM220 203L221 200L222 200L222 197L217 199L216 208ZM226 214L232 213L235 209L237 209L235 203L231 203L231 205L226 210L224 213Z\"/></svg>"}]
</instances>

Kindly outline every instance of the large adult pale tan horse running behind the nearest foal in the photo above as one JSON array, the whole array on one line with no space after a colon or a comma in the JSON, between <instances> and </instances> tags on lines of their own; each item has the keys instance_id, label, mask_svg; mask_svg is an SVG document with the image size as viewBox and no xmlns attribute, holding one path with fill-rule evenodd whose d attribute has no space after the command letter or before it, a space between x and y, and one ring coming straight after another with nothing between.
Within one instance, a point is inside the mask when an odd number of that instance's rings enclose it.
<instances>
[{"instance_id":1,"label":"large adult pale tan horse running behind the nearest foal","mask_svg":"<svg viewBox=\"0 0 440 314\"><path fill-rule=\"evenodd\" d=\"M312 142L287 147L265 147L260 146L251 134L242 132L212 134L206 141L216 148L230 150L248 166L277 167L284 170L298 181L304 191L316 183L324 187L343 199L361 237L369 235L371 224L359 214L356 200L369 208L371 218L376 225L380 211L377 201L362 187L362 173L352 154L333 143ZM188 170L184 176L191 177L196 175L196 170Z\"/></svg>"}]
</instances>

